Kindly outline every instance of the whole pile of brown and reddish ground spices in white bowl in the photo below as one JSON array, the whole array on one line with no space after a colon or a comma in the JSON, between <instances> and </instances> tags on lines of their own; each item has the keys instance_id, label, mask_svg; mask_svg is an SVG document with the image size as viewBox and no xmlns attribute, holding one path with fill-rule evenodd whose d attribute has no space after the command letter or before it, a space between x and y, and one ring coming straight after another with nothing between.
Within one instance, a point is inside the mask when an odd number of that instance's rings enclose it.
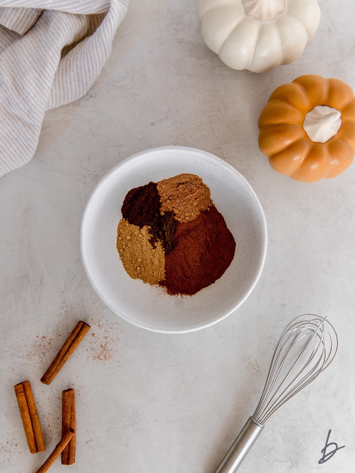
<instances>
[{"instance_id":1,"label":"whole pile of brown and reddish ground spices in white bowl","mask_svg":"<svg viewBox=\"0 0 355 473\"><path fill-rule=\"evenodd\" d=\"M124 269L170 295L196 294L219 279L234 258L234 237L198 175L135 187L121 213L117 250Z\"/></svg>"}]
</instances>

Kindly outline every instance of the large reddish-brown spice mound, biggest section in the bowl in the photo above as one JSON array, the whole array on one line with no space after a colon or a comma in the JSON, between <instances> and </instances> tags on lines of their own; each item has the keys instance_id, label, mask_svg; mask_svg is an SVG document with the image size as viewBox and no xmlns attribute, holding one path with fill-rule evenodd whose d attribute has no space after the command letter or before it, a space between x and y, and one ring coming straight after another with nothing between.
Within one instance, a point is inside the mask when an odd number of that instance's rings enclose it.
<instances>
[{"instance_id":1,"label":"large reddish-brown spice mound, biggest section in the bowl","mask_svg":"<svg viewBox=\"0 0 355 473\"><path fill-rule=\"evenodd\" d=\"M159 284L168 294L192 296L222 276L234 253L234 237L212 206L196 219L177 224L175 246L165 255L165 280Z\"/></svg>"}]
</instances>

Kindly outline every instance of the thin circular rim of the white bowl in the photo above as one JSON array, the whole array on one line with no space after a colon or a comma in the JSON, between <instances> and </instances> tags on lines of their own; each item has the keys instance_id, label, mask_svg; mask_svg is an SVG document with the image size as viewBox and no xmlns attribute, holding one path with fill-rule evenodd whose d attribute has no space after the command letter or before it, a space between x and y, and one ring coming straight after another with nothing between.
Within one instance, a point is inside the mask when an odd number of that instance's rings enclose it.
<instances>
[{"instance_id":1,"label":"thin circular rim of the white bowl","mask_svg":"<svg viewBox=\"0 0 355 473\"><path fill-rule=\"evenodd\" d=\"M96 193L105 185L106 181L111 177L112 174L114 174L117 171L117 169L124 166L129 161L133 161L134 159L141 157L142 155L150 154L150 153L153 153L155 151L172 151L172 150L178 150L178 149L183 150L183 151L191 151L191 152L198 151L199 153L202 152L209 159L212 159L212 160L218 162L219 164L224 165L226 168L229 169L229 171L232 171L232 173L237 175L239 179L244 181L244 184L246 184L247 187L249 187L249 190L251 191L251 194L255 198L256 206L259 207L260 215L261 215L262 253L261 253L261 257L260 257L258 272L257 272L257 274L256 274L249 290L245 293L244 297L231 310L229 310L227 313L225 313L225 315L222 315L222 316L218 317L216 320L213 320L212 322L208 322L206 324L199 324L198 326L195 326L195 327L190 327L190 328L187 328L187 329L180 329L180 330L175 330L175 329L174 330L166 330L166 329L152 328L147 324L139 323L139 322L136 322L136 321L133 322L132 320L129 319L129 316L126 315L124 312L117 312L117 308L112 307L112 305L105 298L104 294L101 292L99 286L96 284L94 278L92 277L91 271L89 269L89 264L87 263L87 259L86 259L86 255L85 255L85 235L84 234L85 234L86 219L87 219L88 213L91 209L91 204L92 204L92 201L94 200L94 198L96 196ZM118 164L113 166L96 183L94 189L90 193L90 196L87 200L87 203L85 205L85 209L83 211L83 215L82 215L82 218L81 218L81 222L80 222L80 256L81 256L81 262L83 264L87 279L89 280L92 288L95 290L98 297L104 302L104 304L107 307L109 307L113 311L113 313L115 315L118 315L119 317L121 317L126 322L129 322L132 325L136 325L137 327L149 330L151 332L157 332L157 333L189 333L189 332L196 332L197 330L201 330L203 328L210 327L211 325L214 325L214 324L220 322L221 320L224 320L226 317L228 317L228 315L231 315L238 307L240 307L243 304L243 302L245 302L245 300L250 296L252 290L255 288L255 286L256 286L259 278L260 278L261 272L264 268L264 263L265 263L265 259L266 259L266 252L267 252L267 246L268 246L268 229L267 229L267 222L266 222L265 213L264 213L262 205L259 201L258 196L256 195L254 189L251 187L251 184L247 181L247 179L239 171L237 171L232 165L230 165L229 163L227 163L223 159L218 158L217 156L215 156L212 153L209 153L208 151L204 151L204 150L198 149L198 148L191 148L191 147L187 147L187 146L175 146L175 145L158 146L158 147L155 147L155 148L149 148L149 149L145 149L143 151L139 151L138 153L135 153L135 154L129 156L128 158L122 159L122 161L120 161Z\"/></svg>"}]
</instances>

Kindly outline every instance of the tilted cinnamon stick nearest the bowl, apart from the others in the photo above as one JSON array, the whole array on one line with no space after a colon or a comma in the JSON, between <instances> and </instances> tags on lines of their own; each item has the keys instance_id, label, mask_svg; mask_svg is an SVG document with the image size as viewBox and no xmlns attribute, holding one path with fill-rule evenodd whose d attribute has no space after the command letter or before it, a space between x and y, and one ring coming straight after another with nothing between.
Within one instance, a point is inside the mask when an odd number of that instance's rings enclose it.
<instances>
[{"instance_id":1,"label":"tilted cinnamon stick nearest the bowl, apart from the others","mask_svg":"<svg viewBox=\"0 0 355 473\"><path fill-rule=\"evenodd\" d=\"M63 346L59 350L57 356L53 359L47 371L44 373L41 381L43 384L49 385L53 379L57 376L64 363L69 359L70 355L78 347L79 343L85 337L89 331L90 325L86 324L82 320L76 324L74 330L70 333L67 340L63 343Z\"/></svg>"}]
</instances>

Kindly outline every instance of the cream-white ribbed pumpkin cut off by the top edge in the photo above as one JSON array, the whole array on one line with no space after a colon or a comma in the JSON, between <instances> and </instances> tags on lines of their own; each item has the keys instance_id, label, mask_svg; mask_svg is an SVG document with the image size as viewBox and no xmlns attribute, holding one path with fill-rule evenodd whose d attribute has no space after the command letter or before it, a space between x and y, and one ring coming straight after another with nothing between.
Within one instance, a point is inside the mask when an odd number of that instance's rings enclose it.
<instances>
[{"instance_id":1,"label":"cream-white ribbed pumpkin cut off by the top edge","mask_svg":"<svg viewBox=\"0 0 355 473\"><path fill-rule=\"evenodd\" d=\"M199 0L202 36L232 69L265 72L295 61L317 31L316 0Z\"/></svg>"}]
</instances>

